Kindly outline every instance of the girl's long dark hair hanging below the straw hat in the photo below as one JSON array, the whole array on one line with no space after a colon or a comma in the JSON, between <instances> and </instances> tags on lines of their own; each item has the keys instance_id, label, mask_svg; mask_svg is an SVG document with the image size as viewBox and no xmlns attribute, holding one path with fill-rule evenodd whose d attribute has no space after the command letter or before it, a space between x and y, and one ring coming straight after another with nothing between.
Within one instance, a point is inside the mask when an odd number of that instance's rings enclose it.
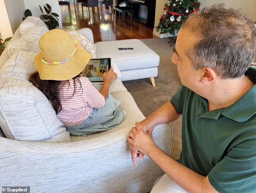
<instances>
[{"instance_id":1,"label":"girl's long dark hair hanging below the straw hat","mask_svg":"<svg viewBox=\"0 0 256 193\"><path fill-rule=\"evenodd\" d=\"M78 74L77 76L72 78L73 84L74 84L74 92L71 97L73 97L76 92L75 82L78 82L81 85L81 82L78 77L80 77L80 74ZM53 106L53 109L55 110L55 112L59 113L62 108L61 101L59 99L59 85L61 84L62 81L41 80L38 72L31 74L29 77L29 81L44 93L44 95L47 97L47 99L52 102L52 106ZM65 80L65 81L69 81L69 80ZM70 84L70 82L69 82L69 84ZM81 88L82 88L82 86L81 86Z\"/></svg>"}]
</instances>

